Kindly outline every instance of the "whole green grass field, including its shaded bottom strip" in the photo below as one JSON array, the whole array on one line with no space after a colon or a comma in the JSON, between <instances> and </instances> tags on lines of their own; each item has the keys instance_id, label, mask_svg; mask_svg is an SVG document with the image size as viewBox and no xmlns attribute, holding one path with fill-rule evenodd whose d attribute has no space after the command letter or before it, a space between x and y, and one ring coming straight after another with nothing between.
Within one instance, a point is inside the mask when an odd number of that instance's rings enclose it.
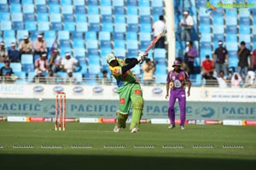
<instances>
[{"instance_id":1,"label":"whole green grass field, including its shaded bottom strip","mask_svg":"<svg viewBox=\"0 0 256 170\"><path fill-rule=\"evenodd\" d=\"M256 165L256 127L142 124L141 132L113 124L0 122L0 168L243 169ZM26 148L31 147L31 148ZM77 147L77 148L76 148ZM3 168L5 167L5 168Z\"/></svg>"}]
</instances>

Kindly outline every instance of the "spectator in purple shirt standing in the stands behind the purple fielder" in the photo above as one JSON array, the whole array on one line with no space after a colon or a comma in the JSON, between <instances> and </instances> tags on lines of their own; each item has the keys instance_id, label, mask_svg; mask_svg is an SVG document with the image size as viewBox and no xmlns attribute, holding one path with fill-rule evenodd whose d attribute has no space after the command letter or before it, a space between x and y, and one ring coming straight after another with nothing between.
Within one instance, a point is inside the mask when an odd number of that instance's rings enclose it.
<instances>
[{"instance_id":1,"label":"spectator in purple shirt standing in the stands behind the purple fielder","mask_svg":"<svg viewBox=\"0 0 256 170\"><path fill-rule=\"evenodd\" d=\"M196 49L193 47L193 42L186 42L187 45L187 51L184 55L185 62L189 66L189 75L195 74L194 69L194 61L195 57L197 57Z\"/></svg>"}]
</instances>

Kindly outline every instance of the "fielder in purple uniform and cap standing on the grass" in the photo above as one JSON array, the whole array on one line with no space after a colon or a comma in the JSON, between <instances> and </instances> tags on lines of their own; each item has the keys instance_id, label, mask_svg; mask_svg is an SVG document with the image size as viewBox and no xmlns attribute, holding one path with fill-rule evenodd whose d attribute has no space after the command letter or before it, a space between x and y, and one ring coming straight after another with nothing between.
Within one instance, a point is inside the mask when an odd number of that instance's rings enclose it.
<instances>
[{"instance_id":1,"label":"fielder in purple uniform and cap standing on the grass","mask_svg":"<svg viewBox=\"0 0 256 170\"><path fill-rule=\"evenodd\" d=\"M186 120L186 92L185 92L185 84L188 83L188 96L190 95L190 87L191 82L189 80L189 74L186 71L180 69L181 63L178 60L173 62L172 67L174 69L168 72L166 78L166 99L169 96L169 89L171 88L170 92L170 99L169 99L169 107L168 107L168 116L171 121L171 125L168 128L175 127L175 111L174 105L176 99L178 99L178 105L180 109L180 128L184 129L184 123Z\"/></svg>"}]
</instances>

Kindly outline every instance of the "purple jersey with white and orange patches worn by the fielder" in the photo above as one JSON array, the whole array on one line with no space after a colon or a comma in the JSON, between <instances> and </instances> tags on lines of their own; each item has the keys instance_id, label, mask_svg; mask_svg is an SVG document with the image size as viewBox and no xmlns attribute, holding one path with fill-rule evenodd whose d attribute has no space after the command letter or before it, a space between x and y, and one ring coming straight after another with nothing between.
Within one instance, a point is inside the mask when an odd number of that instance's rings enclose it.
<instances>
[{"instance_id":1,"label":"purple jersey with white and orange patches worn by the fielder","mask_svg":"<svg viewBox=\"0 0 256 170\"><path fill-rule=\"evenodd\" d=\"M186 71L175 73L174 71L168 72L166 82L173 82L173 89L184 89L185 81L189 81L189 74Z\"/></svg>"}]
</instances>

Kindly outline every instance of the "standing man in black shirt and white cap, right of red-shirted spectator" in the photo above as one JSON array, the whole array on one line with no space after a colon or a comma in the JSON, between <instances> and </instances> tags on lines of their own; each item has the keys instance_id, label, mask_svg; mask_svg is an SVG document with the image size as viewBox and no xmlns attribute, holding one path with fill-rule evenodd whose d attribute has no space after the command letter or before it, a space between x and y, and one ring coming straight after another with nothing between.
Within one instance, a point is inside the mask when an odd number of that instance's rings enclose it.
<instances>
[{"instance_id":1,"label":"standing man in black shirt and white cap, right of red-shirted spectator","mask_svg":"<svg viewBox=\"0 0 256 170\"><path fill-rule=\"evenodd\" d=\"M215 71L224 71L224 75L228 74L227 67L229 65L228 50L223 47L223 42L218 41L218 48L215 49L213 54L213 64Z\"/></svg>"}]
</instances>

